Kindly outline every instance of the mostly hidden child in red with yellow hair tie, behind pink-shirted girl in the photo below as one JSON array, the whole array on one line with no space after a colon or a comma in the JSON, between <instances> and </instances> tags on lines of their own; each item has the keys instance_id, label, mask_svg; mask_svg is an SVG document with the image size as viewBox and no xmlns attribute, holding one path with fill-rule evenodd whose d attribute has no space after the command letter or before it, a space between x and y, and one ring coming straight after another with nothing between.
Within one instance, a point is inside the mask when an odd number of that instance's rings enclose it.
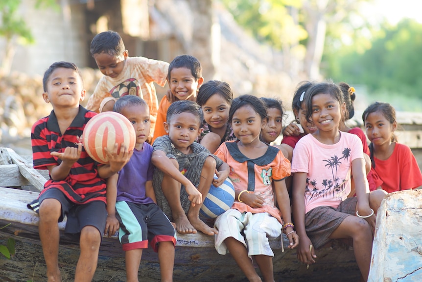
<instances>
[{"instance_id":1,"label":"mostly hidden child in red with yellow hair tie, behind pink-shirted girl","mask_svg":"<svg viewBox=\"0 0 422 282\"><path fill-rule=\"evenodd\" d=\"M354 116L354 105L353 102L356 99L356 93L354 87L351 87L346 82L340 82L338 86L341 89L341 92L343 93L343 99L346 104L346 109L349 115L345 118L345 122L350 120ZM381 189L381 183L382 181L379 179L378 175L375 173L374 169L371 169L371 159L369 157L369 147L368 143L366 142L366 135L363 132L363 130L359 127L350 128L346 125L345 122L342 122L340 124L339 129L343 132L349 132L351 134L357 135L359 137L360 141L362 141L363 146L363 157L365 159L365 171L366 171L366 178L368 179L369 184L369 191L374 191L376 189ZM354 195L354 184L352 179L352 192L349 196Z\"/></svg>"}]
</instances>

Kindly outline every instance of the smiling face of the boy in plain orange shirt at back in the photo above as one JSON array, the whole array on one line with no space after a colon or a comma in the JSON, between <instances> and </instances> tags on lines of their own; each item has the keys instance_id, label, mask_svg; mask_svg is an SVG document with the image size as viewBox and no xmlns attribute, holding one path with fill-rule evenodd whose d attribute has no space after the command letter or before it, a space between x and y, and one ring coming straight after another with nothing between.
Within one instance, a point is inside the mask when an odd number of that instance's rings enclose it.
<instances>
[{"instance_id":1,"label":"smiling face of the boy in plain orange shirt at back","mask_svg":"<svg viewBox=\"0 0 422 282\"><path fill-rule=\"evenodd\" d=\"M171 93L179 100L190 100L196 102L196 94L204 78L198 80L192 76L188 68L175 68L170 71Z\"/></svg>"}]
</instances>

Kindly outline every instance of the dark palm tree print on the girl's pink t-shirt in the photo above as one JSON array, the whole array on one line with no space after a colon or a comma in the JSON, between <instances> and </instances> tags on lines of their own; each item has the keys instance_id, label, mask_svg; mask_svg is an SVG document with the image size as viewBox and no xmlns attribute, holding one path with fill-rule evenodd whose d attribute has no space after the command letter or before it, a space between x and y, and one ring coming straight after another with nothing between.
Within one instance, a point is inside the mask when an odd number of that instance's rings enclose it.
<instances>
[{"instance_id":1,"label":"dark palm tree print on the girl's pink t-shirt","mask_svg":"<svg viewBox=\"0 0 422 282\"><path fill-rule=\"evenodd\" d=\"M320 197L341 199L341 192L345 189L346 179L339 179L337 177L337 170L342 163L342 160L349 161L350 152L350 148L344 148L342 157L338 157L334 154L334 156L331 156L328 159L323 159L326 163L326 169L331 172L331 179L323 179L321 183L317 183L316 179L306 178L305 195L308 201Z\"/></svg>"}]
</instances>

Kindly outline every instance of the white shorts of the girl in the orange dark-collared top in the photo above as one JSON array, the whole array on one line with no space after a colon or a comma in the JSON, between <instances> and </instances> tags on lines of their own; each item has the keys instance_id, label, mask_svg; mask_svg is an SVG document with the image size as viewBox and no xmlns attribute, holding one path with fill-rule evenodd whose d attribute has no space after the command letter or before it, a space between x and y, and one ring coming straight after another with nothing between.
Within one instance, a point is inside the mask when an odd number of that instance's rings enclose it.
<instances>
[{"instance_id":1,"label":"white shorts of the girl in the orange dark-collared top","mask_svg":"<svg viewBox=\"0 0 422 282\"><path fill-rule=\"evenodd\" d=\"M282 225L267 212L252 213L229 209L215 220L218 234L214 236L214 246L218 254L229 253L224 240L233 237L248 249L248 256L274 256L268 238L281 235Z\"/></svg>"}]
</instances>

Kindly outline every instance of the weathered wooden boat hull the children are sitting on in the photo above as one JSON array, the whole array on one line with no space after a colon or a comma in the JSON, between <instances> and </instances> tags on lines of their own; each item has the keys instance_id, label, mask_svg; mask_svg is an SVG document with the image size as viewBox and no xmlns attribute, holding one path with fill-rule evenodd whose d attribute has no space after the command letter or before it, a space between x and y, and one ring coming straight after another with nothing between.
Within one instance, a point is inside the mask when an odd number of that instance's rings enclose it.
<instances>
[{"instance_id":1,"label":"weathered wooden boat hull the children are sitting on","mask_svg":"<svg viewBox=\"0 0 422 282\"><path fill-rule=\"evenodd\" d=\"M0 150L0 153L12 153L10 149ZM19 159L14 155L13 158ZM21 158L20 161L23 161ZM7 164L6 166L10 166ZM13 163L16 165L16 163ZM23 168L22 168L23 167ZM36 181L43 183L37 171L24 161L20 169L28 172ZM0 175L2 165L0 164ZM19 179L21 176L16 176ZM24 178L26 179L26 177ZM16 182L16 181L15 181ZM19 182L19 181L18 181ZM14 183L17 186L19 183ZM38 184L37 184L38 183ZM26 183L28 184L28 183ZM37 190L32 187L32 190ZM26 204L37 198L38 192L24 191L0 187L0 245L12 237L16 240L16 254L12 259L0 257L0 281L45 281L46 265L38 235L38 214L29 210ZM63 230L65 223L59 224ZM288 241L283 236L284 246ZM244 282L244 274L236 265L233 257L219 255L213 246L212 236L203 233L178 234L174 264L174 281L195 282ZM295 250L288 248L281 252L281 239L270 241L274 251L275 281L358 281L359 269L350 247L333 241L332 245L317 251L317 263L306 269L299 262ZM1 255L0 255L1 256ZM61 232L59 248L59 265L63 281L73 281L74 270L79 256L78 239ZM98 256L98 266L94 282L121 282L126 280L124 252L116 237L103 237ZM339 278L340 280L333 278ZM139 279L143 282L160 281L160 266L158 256L151 248L142 253L139 269Z\"/></svg>"}]
</instances>

